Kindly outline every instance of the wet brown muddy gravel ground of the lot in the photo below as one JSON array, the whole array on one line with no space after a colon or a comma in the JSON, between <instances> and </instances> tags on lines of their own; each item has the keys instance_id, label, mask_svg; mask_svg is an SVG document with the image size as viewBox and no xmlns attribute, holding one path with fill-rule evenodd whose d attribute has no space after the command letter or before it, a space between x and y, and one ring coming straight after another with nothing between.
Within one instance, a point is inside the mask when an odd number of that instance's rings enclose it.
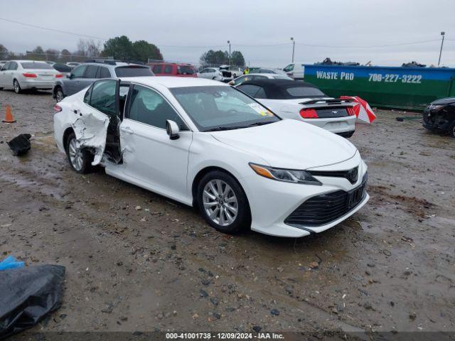
<instances>
[{"instance_id":1,"label":"wet brown muddy gravel ground of the lot","mask_svg":"<svg viewBox=\"0 0 455 341\"><path fill-rule=\"evenodd\" d=\"M63 306L32 331L455 329L455 139L395 120L417 114L357 125L371 196L360 212L282 239L223 235L191 207L77 175L55 147L48 92L0 102L17 119L0 124L0 256L66 266ZM32 149L17 158L6 141L21 133Z\"/></svg>"}]
</instances>

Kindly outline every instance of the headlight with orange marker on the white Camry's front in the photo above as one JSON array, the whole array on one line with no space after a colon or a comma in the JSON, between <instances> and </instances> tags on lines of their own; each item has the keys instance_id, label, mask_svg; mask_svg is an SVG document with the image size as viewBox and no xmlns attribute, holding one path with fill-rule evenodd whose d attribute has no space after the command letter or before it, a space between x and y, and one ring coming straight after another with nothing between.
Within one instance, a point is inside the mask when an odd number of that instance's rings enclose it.
<instances>
[{"instance_id":1,"label":"headlight with orange marker on the white Camry's front","mask_svg":"<svg viewBox=\"0 0 455 341\"><path fill-rule=\"evenodd\" d=\"M285 183L306 183L307 185L322 185L322 183L306 171L299 171L296 169L283 169L273 168L269 166L257 165L256 163L249 163L253 171L257 175L264 178L269 178Z\"/></svg>"}]
</instances>

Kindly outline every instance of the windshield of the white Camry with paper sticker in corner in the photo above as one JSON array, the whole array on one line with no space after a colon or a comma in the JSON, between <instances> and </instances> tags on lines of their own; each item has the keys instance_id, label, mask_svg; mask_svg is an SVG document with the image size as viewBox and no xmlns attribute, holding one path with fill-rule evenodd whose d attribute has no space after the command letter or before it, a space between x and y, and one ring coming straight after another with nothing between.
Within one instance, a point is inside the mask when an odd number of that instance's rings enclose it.
<instances>
[{"instance_id":1,"label":"windshield of the white Camry with paper sticker in corner","mask_svg":"<svg viewBox=\"0 0 455 341\"><path fill-rule=\"evenodd\" d=\"M268 109L232 87L170 90L200 131L240 129L279 121Z\"/></svg>"}]
</instances>

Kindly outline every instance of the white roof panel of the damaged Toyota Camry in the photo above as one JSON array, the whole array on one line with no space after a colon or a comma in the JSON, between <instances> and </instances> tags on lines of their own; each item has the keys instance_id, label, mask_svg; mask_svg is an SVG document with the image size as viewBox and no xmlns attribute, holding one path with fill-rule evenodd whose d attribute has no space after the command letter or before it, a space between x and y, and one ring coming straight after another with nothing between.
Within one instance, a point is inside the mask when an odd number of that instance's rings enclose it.
<instances>
[{"instance_id":1,"label":"white roof panel of the damaged Toyota Camry","mask_svg":"<svg viewBox=\"0 0 455 341\"><path fill-rule=\"evenodd\" d=\"M228 84L218 82L217 80L208 80L199 77L124 77L122 81L139 83L142 85L162 85L164 87L204 87L204 86L222 86L229 87Z\"/></svg>"}]
</instances>

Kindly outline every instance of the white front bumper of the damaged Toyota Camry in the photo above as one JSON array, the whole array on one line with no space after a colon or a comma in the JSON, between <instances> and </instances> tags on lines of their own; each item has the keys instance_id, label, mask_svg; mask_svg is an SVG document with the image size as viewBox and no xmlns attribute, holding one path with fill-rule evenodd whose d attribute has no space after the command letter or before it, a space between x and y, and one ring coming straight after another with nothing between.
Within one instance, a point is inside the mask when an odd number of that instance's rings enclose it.
<instances>
[{"instance_id":1,"label":"white front bumper of the damaged Toyota Camry","mask_svg":"<svg viewBox=\"0 0 455 341\"><path fill-rule=\"evenodd\" d=\"M252 214L251 229L264 234L279 237L304 237L309 234L323 232L360 210L370 196L365 192L363 198L354 207L350 207L348 212L336 217L334 220L318 226L292 226L285 221L298 207L311 197L333 193L336 191L352 191L362 185L363 176L367 172L365 163L356 153L343 163L332 166L314 168L314 171L336 171L348 170L358 167L358 180L351 184L346 178L331 178L326 176L316 176L323 185L304 185L296 183L284 183L281 181L270 180L259 175L253 174L244 178L242 186L247 193Z\"/></svg>"}]
</instances>

